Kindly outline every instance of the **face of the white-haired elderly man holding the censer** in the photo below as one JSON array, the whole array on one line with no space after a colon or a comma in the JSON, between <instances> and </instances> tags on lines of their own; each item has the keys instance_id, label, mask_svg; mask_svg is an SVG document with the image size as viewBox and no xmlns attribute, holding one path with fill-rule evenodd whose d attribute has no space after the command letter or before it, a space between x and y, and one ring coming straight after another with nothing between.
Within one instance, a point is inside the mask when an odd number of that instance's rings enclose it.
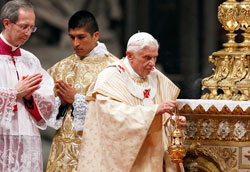
<instances>
[{"instance_id":1,"label":"face of the white-haired elderly man holding the censer","mask_svg":"<svg viewBox=\"0 0 250 172\"><path fill-rule=\"evenodd\" d=\"M129 63L134 71L141 77L145 77L153 70L158 56L157 47L144 47L138 52L127 51Z\"/></svg>"}]
</instances>

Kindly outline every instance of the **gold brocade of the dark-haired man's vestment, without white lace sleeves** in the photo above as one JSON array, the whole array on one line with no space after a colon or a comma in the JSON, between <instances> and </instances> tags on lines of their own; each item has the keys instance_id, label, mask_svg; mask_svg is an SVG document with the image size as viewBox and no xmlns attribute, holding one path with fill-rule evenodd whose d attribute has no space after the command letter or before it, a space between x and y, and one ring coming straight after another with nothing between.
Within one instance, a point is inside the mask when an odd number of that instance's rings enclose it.
<instances>
[{"instance_id":1,"label":"gold brocade of the dark-haired man's vestment, without white lace sleeves","mask_svg":"<svg viewBox=\"0 0 250 172\"><path fill-rule=\"evenodd\" d=\"M73 54L56 63L48 72L54 81L63 80L72 84L77 94L86 95L97 74L116 60L118 59L110 53L87 56L84 59ZM61 127L53 138L47 172L73 172L77 169L82 131L75 130L71 112L72 106L69 106Z\"/></svg>"}]
</instances>

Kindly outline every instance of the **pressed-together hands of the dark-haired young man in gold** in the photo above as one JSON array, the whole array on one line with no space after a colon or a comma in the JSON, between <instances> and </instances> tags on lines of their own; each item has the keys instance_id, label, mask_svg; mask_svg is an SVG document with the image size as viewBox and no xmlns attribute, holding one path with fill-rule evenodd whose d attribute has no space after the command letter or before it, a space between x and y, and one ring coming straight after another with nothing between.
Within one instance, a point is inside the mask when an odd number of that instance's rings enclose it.
<instances>
[{"instance_id":1,"label":"pressed-together hands of the dark-haired young man in gold","mask_svg":"<svg viewBox=\"0 0 250 172\"><path fill-rule=\"evenodd\" d=\"M58 94L61 104L65 106L67 103L72 104L75 99L76 90L62 80L56 81L56 93Z\"/></svg>"}]
</instances>

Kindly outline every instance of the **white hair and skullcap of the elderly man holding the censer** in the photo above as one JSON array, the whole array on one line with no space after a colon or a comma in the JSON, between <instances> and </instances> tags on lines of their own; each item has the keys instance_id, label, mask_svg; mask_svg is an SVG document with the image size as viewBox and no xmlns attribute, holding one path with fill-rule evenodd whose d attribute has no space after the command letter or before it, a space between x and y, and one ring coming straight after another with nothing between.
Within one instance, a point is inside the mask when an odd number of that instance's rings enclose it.
<instances>
[{"instance_id":1,"label":"white hair and skullcap of the elderly man holding the censer","mask_svg":"<svg viewBox=\"0 0 250 172\"><path fill-rule=\"evenodd\" d=\"M146 32L138 32L129 38L127 51L136 53L144 47L159 48L159 43L152 35Z\"/></svg>"}]
</instances>

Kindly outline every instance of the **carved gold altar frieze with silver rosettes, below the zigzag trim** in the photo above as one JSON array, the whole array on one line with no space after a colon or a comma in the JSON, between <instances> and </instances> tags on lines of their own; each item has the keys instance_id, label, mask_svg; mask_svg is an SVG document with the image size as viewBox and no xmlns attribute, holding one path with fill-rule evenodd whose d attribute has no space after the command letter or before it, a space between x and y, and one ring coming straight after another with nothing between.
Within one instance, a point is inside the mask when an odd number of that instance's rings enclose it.
<instances>
[{"instance_id":1,"label":"carved gold altar frieze with silver rosettes, below the zigzag trim","mask_svg":"<svg viewBox=\"0 0 250 172\"><path fill-rule=\"evenodd\" d=\"M181 115L185 116L185 114ZM247 132L238 133L243 132L243 129L247 130L250 127L247 118L226 118L219 117L218 115L209 120L208 118L211 118L209 114L206 116L199 116L199 118L197 118L197 114L186 116L187 126L184 128L185 141L208 141L209 143L223 142L231 145L233 145L233 142L247 144L250 141ZM220 125L222 122L226 122L227 125ZM242 127L244 128L241 129L236 127L238 124L242 124ZM241 131L238 131L239 129Z\"/></svg>"}]
</instances>

